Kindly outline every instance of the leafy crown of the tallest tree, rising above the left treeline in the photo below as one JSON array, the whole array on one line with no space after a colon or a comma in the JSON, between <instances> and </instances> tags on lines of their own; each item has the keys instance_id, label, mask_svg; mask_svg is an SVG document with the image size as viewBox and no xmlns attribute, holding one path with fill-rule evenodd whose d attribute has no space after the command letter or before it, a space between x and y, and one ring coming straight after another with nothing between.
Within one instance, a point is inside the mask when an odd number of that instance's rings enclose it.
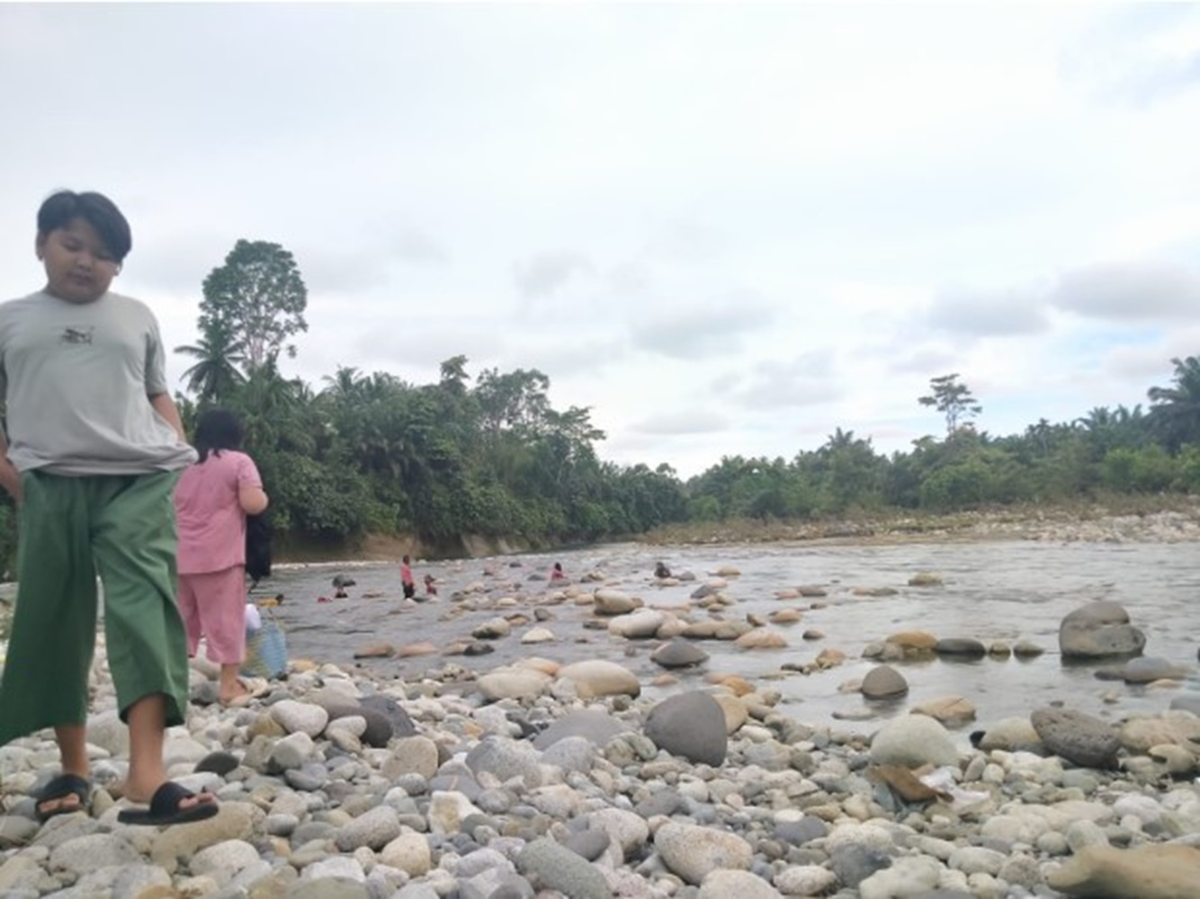
<instances>
[{"instance_id":1,"label":"leafy crown of the tallest tree, rising above the left treeline","mask_svg":"<svg viewBox=\"0 0 1200 899\"><path fill-rule=\"evenodd\" d=\"M295 258L278 243L239 240L224 265L204 279L200 332L217 331L241 346L246 366L260 368L281 351L295 356L294 334L307 331L308 289Z\"/></svg>"}]
</instances>

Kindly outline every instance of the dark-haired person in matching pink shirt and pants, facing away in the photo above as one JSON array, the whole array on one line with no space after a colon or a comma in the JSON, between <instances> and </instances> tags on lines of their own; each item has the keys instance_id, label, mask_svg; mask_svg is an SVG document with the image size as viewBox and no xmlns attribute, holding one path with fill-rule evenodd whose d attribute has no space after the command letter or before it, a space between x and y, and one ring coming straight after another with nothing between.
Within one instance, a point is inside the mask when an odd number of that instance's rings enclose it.
<instances>
[{"instance_id":1,"label":"dark-haired person in matching pink shirt and pants, facing away","mask_svg":"<svg viewBox=\"0 0 1200 899\"><path fill-rule=\"evenodd\" d=\"M246 660L246 515L266 508L254 460L241 452L241 422L224 409L203 412L196 426L199 461L175 488L179 520L179 610L187 653L200 636L221 665L221 702L244 700L250 689L238 671Z\"/></svg>"}]
</instances>

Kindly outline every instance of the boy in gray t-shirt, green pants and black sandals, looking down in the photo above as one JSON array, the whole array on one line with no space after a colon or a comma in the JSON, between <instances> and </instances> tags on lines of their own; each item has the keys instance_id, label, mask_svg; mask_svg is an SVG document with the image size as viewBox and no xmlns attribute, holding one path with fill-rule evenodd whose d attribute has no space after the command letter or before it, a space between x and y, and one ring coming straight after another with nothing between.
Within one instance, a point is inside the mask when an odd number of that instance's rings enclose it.
<instances>
[{"instance_id":1,"label":"boy in gray t-shirt, green pants and black sandals, looking down","mask_svg":"<svg viewBox=\"0 0 1200 899\"><path fill-rule=\"evenodd\" d=\"M187 644L175 605L172 493L196 459L167 391L158 322L109 291L132 246L98 193L55 193L37 213L46 288L0 304L0 485L17 501L18 591L0 677L0 744L53 726L62 773L37 816L84 810L96 575L121 719L130 729L130 823L197 821L210 794L167 779L166 728L187 710Z\"/></svg>"}]
</instances>

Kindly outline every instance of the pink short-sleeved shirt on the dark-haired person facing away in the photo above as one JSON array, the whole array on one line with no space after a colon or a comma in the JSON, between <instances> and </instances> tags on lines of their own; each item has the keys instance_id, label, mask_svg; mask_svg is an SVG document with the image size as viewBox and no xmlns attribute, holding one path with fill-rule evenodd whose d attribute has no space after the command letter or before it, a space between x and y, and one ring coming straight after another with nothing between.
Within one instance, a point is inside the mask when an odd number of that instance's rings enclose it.
<instances>
[{"instance_id":1,"label":"pink short-sleeved shirt on the dark-haired person facing away","mask_svg":"<svg viewBox=\"0 0 1200 899\"><path fill-rule=\"evenodd\" d=\"M218 453L210 452L204 461L185 469L175 488L180 574L220 572L246 563L246 513L238 502L238 491L262 487L263 479L246 453Z\"/></svg>"}]
</instances>

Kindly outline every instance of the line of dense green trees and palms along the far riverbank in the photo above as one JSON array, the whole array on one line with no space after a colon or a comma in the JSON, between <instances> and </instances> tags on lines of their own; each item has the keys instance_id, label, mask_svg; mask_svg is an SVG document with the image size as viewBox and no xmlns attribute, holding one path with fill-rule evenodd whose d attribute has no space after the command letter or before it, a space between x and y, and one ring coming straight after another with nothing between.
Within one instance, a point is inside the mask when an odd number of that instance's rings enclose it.
<instances>
[{"instance_id":1,"label":"line of dense green trees and palms along the far riverbank","mask_svg":"<svg viewBox=\"0 0 1200 899\"><path fill-rule=\"evenodd\" d=\"M185 424L209 405L241 414L246 450L271 494L284 544L329 549L368 533L412 533L455 553L462 535L564 545L641 535L686 521L814 519L888 511L1054 503L1103 493L1200 490L1200 358L1171 360L1166 387L1140 404L1096 408L1070 422L1040 420L995 436L958 374L930 380L917 402L946 421L907 452L876 452L838 428L816 450L721 458L680 479L670 465L600 458L590 409L554 409L538 369L440 364L410 384L340 367L318 386L280 372L307 330L307 291L289 252L239 241L204 280L191 362L176 396ZM12 556L11 505L0 550Z\"/></svg>"}]
</instances>

